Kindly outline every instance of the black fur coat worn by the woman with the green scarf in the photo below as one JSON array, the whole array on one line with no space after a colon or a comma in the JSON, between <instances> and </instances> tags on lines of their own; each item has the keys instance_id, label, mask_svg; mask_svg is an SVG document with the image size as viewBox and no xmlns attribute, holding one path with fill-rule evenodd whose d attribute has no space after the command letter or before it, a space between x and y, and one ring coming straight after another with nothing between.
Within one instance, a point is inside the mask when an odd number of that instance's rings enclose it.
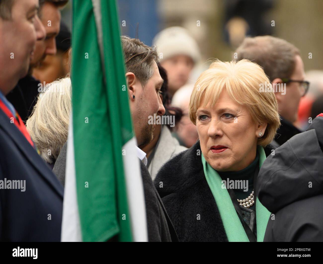
<instances>
[{"instance_id":1,"label":"black fur coat worn by the woman with the green scarf","mask_svg":"<svg viewBox=\"0 0 323 264\"><path fill-rule=\"evenodd\" d=\"M266 155L271 148L265 148ZM202 153L199 142L166 162L154 180L155 187L179 241L228 241L198 153Z\"/></svg>"}]
</instances>

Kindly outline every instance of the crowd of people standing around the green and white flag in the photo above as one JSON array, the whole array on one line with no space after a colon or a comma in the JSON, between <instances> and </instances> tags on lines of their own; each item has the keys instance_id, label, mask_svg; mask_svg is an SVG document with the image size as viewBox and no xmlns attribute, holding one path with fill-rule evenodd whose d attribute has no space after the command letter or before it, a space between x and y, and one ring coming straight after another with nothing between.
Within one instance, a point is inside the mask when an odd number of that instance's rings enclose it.
<instances>
[{"instance_id":1,"label":"crowd of people standing around the green and white flag","mask_svg":"<svg viewBox=\"0 0 323 264\"><path fill-rule=\"evenodd\" d=\"M0 241L61 239L67 2L0 1ZM148 241L323 241L323 81L310 87L297 47L246 37L192 82L201 54L186 29L120 41Z\"/></svg>"}]
</instances>

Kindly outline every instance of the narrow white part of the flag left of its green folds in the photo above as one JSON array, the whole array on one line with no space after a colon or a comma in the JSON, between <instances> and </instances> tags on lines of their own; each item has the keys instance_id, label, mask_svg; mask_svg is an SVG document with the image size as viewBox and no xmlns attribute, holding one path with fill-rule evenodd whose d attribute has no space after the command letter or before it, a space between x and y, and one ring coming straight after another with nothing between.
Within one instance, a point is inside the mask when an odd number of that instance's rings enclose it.
<instances>
[{"instance_id":1,"label":"narrow white part of the flag left of its green folds","mask_svg":"<svg viewBox=\"0 0 323 264\"><path fill-rule=\"evenodd\" d=\"M74 138L72 114L69 119L67 154L66 154L66 172L65 189L63 201L63 219L62 219L62 242L81 242L82 233L78 213L78 200L76 193L76 174L74 159Z\"/></svg>"}]
</instances>

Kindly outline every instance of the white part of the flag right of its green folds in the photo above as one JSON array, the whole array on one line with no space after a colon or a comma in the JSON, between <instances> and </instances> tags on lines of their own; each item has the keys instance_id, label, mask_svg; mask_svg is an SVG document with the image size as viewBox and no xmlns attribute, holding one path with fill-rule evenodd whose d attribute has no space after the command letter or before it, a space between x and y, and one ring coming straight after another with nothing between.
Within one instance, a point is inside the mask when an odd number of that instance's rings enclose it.
<instances>
[{"instance_id":1,"label":"white part of the flag right of its green folds","mask_svg":"<svg viewBox=\"0 0 323 264\"><path fill-rule=\"evenodd\" d=\"M127 188L128 208L131 219L132 239L147 242L146 205L140 172L139 158L136 155L136 139L133 137L123 147L123 169Z\"/></svg>"}]
</instances>

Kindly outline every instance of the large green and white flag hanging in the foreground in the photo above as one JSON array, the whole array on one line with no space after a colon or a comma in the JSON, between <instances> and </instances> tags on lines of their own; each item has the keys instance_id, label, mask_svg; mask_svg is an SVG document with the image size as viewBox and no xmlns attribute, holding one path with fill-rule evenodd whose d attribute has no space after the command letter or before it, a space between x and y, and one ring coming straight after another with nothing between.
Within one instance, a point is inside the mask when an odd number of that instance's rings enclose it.
<instances>
[{"instance_id":1,"label":"large green and white flag hanging in the foreground","mask_svg":"<svg viewBox=\"0 0 323 264\"><path fill-rule=\"evenodd\" d=\"M146 241L115 1L73 1L72 25L62 241Z\"/></svg>"}]
</instances>

